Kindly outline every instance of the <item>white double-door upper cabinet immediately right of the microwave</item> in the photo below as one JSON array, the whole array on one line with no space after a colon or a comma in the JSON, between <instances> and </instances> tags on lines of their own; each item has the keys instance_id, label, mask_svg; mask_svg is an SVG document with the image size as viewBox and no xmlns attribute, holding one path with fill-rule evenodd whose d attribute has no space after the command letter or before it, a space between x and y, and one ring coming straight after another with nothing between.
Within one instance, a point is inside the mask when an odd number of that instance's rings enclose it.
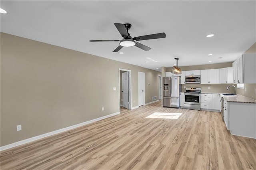
<instances>
[{"instance_id":1,"label":"white double-door upper cabinet immediately right of the microwave","mask_svg":"<svg viewBox=\"0 0 256 170\"><path fill-rule=\"evenodd\" d=\"M201 84L218 84L219 69L201 70Z\"/></svg>"}]
</instances>

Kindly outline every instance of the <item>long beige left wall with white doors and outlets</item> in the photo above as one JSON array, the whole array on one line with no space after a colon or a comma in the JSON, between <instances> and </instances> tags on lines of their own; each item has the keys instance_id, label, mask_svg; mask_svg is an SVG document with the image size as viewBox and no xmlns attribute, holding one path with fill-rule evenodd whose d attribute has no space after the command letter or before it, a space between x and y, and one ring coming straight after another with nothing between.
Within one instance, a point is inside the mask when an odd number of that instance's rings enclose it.
<instances>
[{"instance_id":1,"label":"long beige left wall with white doors and outlets","mask_svg":"<svg viewBox=\"0 0 256 170\"><path fill-rule=\"evenodd\" d=\"M158 71L4 33L0 45L0 146L119 112L119 68L131 70L132 107L138 71L145 103L158 96Z\"/></svg>"}]
</instances>

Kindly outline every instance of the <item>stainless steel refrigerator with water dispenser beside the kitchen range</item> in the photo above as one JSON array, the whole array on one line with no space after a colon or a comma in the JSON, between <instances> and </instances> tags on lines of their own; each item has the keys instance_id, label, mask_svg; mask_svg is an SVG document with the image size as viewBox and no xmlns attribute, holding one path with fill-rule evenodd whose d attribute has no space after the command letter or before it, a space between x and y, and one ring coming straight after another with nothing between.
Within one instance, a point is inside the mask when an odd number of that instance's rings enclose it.
<instances>
[{"instance_id":1,"label":"stainless steel refrigerator with water dispenser beside the kitchen range","mask_svg":"<svg viewBox=\"0 0 256 170\"><path fill-rule=\"evenodd\" d=\"M180 108L180 77L163 77L163 107Z\"/></svg>"}]
</instances>

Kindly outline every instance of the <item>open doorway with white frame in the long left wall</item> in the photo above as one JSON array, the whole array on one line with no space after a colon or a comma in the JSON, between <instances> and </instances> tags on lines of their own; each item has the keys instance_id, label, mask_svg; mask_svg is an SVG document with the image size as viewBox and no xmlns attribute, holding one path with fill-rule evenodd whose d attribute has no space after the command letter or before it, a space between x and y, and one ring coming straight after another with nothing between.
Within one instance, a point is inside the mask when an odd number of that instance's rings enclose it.
<instances>
[{"instance_id":1,"label":"open doorway with white frame in the long left wall","mask_svg":"<svg viewBox=\"0 0 256 170\"><path fill-rule=\"evenodd\" d=\"M119 105L123 109L131 109L131 70L119 68Z\"/></svg>"}]
</instances>

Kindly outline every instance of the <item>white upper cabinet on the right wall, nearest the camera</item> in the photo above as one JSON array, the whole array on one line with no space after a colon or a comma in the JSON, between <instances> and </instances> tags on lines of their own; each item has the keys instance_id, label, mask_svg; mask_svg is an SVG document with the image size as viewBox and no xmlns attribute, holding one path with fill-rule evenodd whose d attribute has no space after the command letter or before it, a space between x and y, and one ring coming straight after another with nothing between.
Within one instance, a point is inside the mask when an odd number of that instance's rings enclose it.
<instances>
[{"instance_id":1,"label":"white upper cabinet on the right wall, nearest the camera","mask_svg":"<svg viewBox=\"0 0 256 170\"><path fill-rule=\"evenodd\" d=\"M256 83L256 53L246 53L232 63L234 83Z\"/></svg>"}]
</instances>

